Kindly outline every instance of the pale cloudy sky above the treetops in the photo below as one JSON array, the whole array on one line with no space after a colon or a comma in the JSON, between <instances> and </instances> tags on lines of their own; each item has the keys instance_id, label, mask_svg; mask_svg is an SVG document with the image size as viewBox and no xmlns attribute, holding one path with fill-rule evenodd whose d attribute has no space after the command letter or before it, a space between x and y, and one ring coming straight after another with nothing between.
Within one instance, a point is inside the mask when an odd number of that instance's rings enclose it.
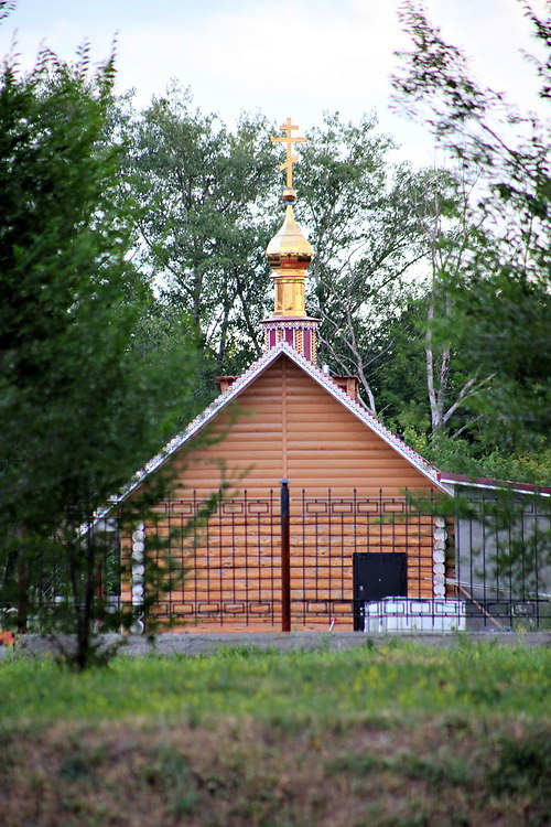
<instances>
[{"instance_id":1,"label":"pale cloudy sky above the treetops","mask_svg":"<svg viewBox=\"0 0 551 827\"><path fill-rule=\"evenodd\" d=\"M145 107L171 79L194 103L233 126L244 110L306 130L324 111L358 121L375 110L398 157L439 163L433 141L389 109L389 76L408 46L400 0L19 0L0 24L0 53L31 68L41 45L73 58L84 41L101 62L117 39L118 89L136 89ZM518 104L533 105L534 72L519 54L533 51L517 0L425 0L444 37L473 61L476 76ZM532 0L539 12L545 0Z\"/></svg>"}]
</instances>

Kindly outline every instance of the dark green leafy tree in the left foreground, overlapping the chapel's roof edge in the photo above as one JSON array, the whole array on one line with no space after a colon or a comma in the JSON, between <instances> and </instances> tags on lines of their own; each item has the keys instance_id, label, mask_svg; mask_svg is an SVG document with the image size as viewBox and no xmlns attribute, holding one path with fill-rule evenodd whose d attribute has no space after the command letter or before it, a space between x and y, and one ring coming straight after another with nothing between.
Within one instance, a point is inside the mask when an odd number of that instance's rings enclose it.
<instances>
[{"instance_id":1,"label":"dark green leafy tree in the left foreground, overlapping the chapel's roof edge","mask_svg":"<svg viewBox=\"0 0 551 827\"><path fill-rule=\"evenodd\" d=\"M26 76L8 58L0 76L0 590L24 627L44 572L62 571L80 668L107 619L105 549L83 526L159 449L193 383L182 325L180 342L137 346L152 297L107 141L114 72L112 57L91 72L85 47L76 65L44 50Z\"/></svg>"}]
</instances>

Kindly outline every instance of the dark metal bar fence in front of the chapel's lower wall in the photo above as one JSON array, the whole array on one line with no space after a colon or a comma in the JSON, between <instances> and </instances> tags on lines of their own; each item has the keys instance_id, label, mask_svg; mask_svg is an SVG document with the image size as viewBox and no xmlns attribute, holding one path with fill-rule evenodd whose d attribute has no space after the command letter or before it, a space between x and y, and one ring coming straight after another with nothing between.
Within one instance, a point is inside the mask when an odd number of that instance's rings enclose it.
<instances>
[{"instance_id":1,"label":"dark metal bar fence in front of the chapel's lower wall","mask_svg":"<svg viewBox=\"0 0 551 827\"><path fill-rule=\"evenodd\" d=\"M311 496L281 490L223 500L202 520L196 494L143 524L147 554L180 573L152 616L188 631L445 632L551 625L549 501L477 497L442 516L430 492ZM140 541L139 541L140 543ZM120 537L122 556L132 537ZM139 577L121 600L140 606Z\"/></svg>"}]
</instances>

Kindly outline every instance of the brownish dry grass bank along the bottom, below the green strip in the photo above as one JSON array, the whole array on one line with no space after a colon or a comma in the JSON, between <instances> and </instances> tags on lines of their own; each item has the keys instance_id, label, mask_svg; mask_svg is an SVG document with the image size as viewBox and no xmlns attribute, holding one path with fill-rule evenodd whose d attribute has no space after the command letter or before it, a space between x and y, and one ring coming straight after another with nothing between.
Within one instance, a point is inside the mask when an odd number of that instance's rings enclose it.
<instances>
[{"instance_id":1,"label":"brownish dry grass bank along the bottom, below the green strip","mask_svg":"<svg viewBox=\"0 0 551 827\"><path fill-rule=\"evenodd\" d=\"M6 734L6 827L488 827L551 818L551 728L372 716Z\"/></svg>"}]
</instances>

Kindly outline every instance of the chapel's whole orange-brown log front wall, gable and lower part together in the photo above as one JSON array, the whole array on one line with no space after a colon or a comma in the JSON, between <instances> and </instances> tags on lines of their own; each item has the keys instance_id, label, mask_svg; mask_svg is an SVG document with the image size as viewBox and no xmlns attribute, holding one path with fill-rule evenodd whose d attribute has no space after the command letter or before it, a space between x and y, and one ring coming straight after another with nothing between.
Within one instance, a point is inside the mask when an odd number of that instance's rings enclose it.
<instances>
[{"instance_id":1,"label":"chapel's whole orange-brown log front wall, gable and lower part together","mask_svg":"<svg viewBox=\"0 0 551 827\"><path fill-rule=\"evenodd\" d=\"M233 411L218 417L209 434L224 438L203 445L199 438L195 449L171 461L175 500L159 511L174 517L179 500L192 491L206 497L220 483L222 464L233 485L229 496L246 490L250 502L272 491L274 511L256 522L218 515L197 533L194 549L190 541L174 549L188 571L183 584L162 597L168 602L160 613L175 612L180 622L188 616L185 627L197 631L280 627L282 477L291 490L293 629L327 629L331 600L336 627L352 630L354 550L407 550L409 595L432 595L430 518L406 525L397 514L393 523L380 523L378 515L346 515L345 505L331 523L312 515L293 525L303 488L309 497L326 497L331 488L335 501L349 498L354 488L358 497L388 497L431 483L285 356L240 395ZM168 518L154 530L166 536Z\"/></svg>"}]
</instances>

